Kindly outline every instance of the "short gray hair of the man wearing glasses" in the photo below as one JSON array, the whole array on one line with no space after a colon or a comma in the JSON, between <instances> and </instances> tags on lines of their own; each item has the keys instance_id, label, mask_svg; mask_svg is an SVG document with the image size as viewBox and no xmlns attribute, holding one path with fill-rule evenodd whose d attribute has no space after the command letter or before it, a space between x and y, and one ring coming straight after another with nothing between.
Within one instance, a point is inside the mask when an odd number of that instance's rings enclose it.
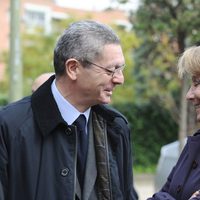
<instances>
[{"instance_id":1,"label":"short gray hair of the man wearing glasses","mask_svg":"<svg viewBox=\"0 0 200 200\"><path fill-rule=\"evenodd\" d=\"M70 58L80 62L93 61L101 56L107 44L120 44L118 36L109 26L91 20L72 23L64 30L54 49L55 73L64 74L65 62Z\"/></svg>"}]
</instances>

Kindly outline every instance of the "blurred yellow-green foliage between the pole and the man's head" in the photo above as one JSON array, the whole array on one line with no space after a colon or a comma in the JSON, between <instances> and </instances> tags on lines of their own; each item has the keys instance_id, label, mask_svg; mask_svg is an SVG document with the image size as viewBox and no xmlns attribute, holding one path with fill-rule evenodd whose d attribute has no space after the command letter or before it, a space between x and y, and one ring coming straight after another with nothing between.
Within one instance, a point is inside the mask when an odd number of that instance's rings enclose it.
<instances>
[{"instance_id":1,"label":"blurred yellow-green foliage between the pole and the man's head","mask_svg":"<svg viewBox=\"0 0 200 200\"><path fill-rule=\"evenodd\" d=\"M60 33L72 19L53 23L53 32L45 34L35 30L34 34L25 33L22 40L24 95L31 92L33 80L45 72L53 72L53 49Z\"/></svg>"}]
</instances>

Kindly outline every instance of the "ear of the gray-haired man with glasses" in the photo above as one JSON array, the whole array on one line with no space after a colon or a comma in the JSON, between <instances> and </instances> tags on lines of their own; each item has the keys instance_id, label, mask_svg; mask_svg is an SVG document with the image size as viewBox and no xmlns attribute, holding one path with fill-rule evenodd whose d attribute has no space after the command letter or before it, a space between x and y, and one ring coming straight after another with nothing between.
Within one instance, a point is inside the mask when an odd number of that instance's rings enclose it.
<instances>
[{"instance_id":1,"label":"ear of the gray-haired man with glasses","mask_svg":"<svg viewBox=\"0 0 200 200\"><path fill-rule=\"evenodd\" d=\"M79 62L74 58L70 58L65 62L66 74L72 80L76 80L77 78L78 65Z\"/></svg>"}]
</instances>

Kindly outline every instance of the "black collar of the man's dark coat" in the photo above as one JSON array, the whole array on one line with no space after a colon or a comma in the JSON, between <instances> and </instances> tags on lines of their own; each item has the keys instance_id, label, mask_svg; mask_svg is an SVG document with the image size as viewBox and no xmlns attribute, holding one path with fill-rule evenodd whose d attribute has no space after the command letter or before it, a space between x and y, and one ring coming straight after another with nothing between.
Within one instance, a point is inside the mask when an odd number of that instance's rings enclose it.
<instances>
[{"instance_id":1,"label":"black collar of the man's dark coat","mask_svg":"<svg viewBox=\"0 0 200 200\"><path fill-rule=\"evenodd\" d=\"M54 79L55 75L51 76L31 96L34 118L44 136L48 135L58 125L67 125L60 114L51 91L51 84ZM122 117L127 123L126 118L110 106L95 105L92 106L92 111L101 115L106 121L111 122L115 117Z\"/></svg>"}]
</instances>

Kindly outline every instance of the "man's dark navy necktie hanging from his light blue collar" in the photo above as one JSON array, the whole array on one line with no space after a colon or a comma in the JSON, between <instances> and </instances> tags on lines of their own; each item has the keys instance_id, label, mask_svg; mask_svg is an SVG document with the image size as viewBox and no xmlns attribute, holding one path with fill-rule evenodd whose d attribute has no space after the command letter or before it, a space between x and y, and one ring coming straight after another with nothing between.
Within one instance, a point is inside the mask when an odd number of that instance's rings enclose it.
<instances>
[{"instance_id":1,"label":"man's dark navy necktie hanging from his light blue collar","mask_svg":"<svg viewBox=\"0 0 200 200\"><path fill-rule=\"evenodd\" d=\"M85 165L88 149L88 136L86 134L86 118L83 114L79 115L74 124L77 126L78 135L78 155L77 155L77 175L78 180L83 189Z\"/></svg>"}]
</instances>

